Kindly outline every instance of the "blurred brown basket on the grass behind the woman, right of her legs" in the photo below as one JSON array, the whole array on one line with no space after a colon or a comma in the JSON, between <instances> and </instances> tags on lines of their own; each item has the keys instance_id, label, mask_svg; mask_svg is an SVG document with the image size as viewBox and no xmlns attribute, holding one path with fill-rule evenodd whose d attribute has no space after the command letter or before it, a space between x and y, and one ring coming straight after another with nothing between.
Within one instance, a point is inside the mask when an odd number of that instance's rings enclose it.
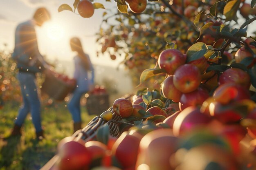
<instances>
[{"instance_id":1,"label":"blurred brown basket on the grass behind the woman, right of her legs","mask_svg":"<svg viewBox=\"0 0 256 170\"><path fill-rule=\"evenodd\" d=\"M89 115L100 115L109 107L109 95L107 93L91 94L87 98L86 108Z\"/></svg>"}]
</instances>

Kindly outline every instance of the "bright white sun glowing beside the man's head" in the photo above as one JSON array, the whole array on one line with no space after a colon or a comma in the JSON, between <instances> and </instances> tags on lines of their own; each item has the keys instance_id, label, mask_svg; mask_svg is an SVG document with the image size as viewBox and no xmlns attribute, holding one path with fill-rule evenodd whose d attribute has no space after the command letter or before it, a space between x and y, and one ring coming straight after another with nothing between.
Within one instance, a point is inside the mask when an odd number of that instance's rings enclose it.
<instances>
[{"instance_id":1,"label":"bright white sun glowing beside the man's head","mask_svg":"<svg viewBox=\"0 0 256 170\"><path fill-rule=\"evenodd\" d=\"M46 36L52 41L61 41L65 36L65 27L57 22L45 23Z\"/></svg>"}]
</instances>

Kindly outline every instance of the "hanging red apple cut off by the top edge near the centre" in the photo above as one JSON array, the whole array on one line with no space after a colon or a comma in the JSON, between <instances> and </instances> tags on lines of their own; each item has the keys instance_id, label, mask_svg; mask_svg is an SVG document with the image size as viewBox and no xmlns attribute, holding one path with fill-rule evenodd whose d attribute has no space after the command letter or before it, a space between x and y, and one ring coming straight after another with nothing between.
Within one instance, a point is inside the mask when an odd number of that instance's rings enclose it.
<instances>
[{"instance_id":1,"label":"hanging red apple cut off by the top edge near the centre","mask_svg":"<svg viewBox=\"0 0 256 170\"><path fill-rule=\"evenodd\" d=\"M147 6L147 0L126 0L129 9L134 13L142 13Z\"/></svg>"}]
</instances>

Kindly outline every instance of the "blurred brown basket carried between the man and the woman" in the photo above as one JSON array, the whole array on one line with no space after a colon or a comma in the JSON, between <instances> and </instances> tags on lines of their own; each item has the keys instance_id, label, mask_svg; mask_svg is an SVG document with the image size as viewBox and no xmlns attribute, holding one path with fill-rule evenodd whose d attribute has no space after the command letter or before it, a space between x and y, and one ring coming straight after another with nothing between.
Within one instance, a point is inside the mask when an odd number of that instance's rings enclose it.
<instances>
[{"instance_id":1,"label":"blurred brown basket carried between the man and the woman","mask_svg":"<svg viewBox=\"0 0 256 170\"><path fill-rule=\"evenodd\" d=\"M56 100L62 101L75 88L75 84L67 83L55 75L47 75L41 91Z\"/></svg>"}]
</instances>

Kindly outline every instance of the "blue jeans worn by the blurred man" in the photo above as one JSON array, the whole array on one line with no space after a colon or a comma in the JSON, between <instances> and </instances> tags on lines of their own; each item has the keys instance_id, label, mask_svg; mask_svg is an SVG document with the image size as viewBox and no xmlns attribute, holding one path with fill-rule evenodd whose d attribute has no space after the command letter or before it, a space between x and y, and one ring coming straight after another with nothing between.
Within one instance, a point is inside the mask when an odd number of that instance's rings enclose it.
<instances>
[{"instance_id":1,"label":"blue jeans worn by the blurred man","mask_svg":"<svg viewBox=\"0 0 256 170\"><path fill-rule=\"evenodd\" d=\"M19 72L18 80L23 98L23 106L20 106L15 124L22 126L27 114L30 112L36 132L42 131L40 117L40 100L37 93L36 76L33 73Z\"/></svg>"}]
</instances>

